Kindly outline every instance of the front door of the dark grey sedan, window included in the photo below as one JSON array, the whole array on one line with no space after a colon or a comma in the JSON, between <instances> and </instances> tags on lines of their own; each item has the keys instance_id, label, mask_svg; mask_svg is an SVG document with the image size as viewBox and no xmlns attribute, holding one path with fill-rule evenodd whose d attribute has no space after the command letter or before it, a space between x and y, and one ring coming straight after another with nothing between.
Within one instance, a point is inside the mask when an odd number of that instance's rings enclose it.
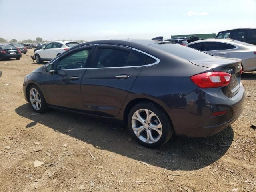
<instances>
[{"instance_id":1,"label":"front door of the dark grey sedan, window included","mask_svg":"<svg viewBox=\"0 0 256 192\"><path fill-rule=\"evenodd\" d=\"M62 55L54 64L54 72L44 82L48 104L83 109L81 80L94 46L83 46Z\"/></svg>"}]
</instances>

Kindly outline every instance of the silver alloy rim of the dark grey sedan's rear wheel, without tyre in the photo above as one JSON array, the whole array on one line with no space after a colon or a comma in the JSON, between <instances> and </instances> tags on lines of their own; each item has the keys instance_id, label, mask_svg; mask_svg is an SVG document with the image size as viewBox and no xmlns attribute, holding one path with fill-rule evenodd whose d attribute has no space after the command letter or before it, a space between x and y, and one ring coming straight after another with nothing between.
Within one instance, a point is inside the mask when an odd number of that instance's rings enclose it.
<instances>
[{"instance_id":1,"label":"silver alloy rim of the dark grey sedan's rear wheel, without tyre","mask_svg":"<svg viewBox=\"0 0 256 192\"><path fill-rule=\"evenodd\" d=\"M148 109L139 109L133 114L132 130L145 143L155 143L162 136L162 124L158 116Z\"/></svg>"}]
</instances>

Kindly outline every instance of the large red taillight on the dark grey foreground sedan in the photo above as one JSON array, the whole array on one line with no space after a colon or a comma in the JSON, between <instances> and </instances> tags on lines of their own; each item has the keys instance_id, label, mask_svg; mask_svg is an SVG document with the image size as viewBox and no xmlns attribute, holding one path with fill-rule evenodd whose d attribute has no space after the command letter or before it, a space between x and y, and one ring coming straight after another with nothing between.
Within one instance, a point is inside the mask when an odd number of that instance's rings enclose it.
<instances>
[{"instance_id":1,"label":"large red taillight on the dark grey foreground sedan","mask_svg":"<svg viewBox=\"0 0 256 192\"><path fill-rule=\"evenodd\" d=\"M216 88L227 86L231 80L231 74L226 72L206 72L190 77L200 88Z\"/></svg>"}]
</instances>

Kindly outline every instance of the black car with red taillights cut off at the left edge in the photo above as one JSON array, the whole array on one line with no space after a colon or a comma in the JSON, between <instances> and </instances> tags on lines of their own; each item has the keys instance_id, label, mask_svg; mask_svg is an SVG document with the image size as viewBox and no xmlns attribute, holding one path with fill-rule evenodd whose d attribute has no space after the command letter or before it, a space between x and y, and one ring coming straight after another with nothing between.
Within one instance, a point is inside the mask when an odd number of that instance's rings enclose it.
<instances>
[{"instance_id":1,"label":"black car with red taillights cut off at the left edge","mask_svg":"<svg viewBox=\"0 0 256 192\"><path fill-rule=\"evenodd\" d=\"M21 58L20 50L12 45L0 44L0 60L12 58L19 60Z\"/></svg>"}]
</instances>

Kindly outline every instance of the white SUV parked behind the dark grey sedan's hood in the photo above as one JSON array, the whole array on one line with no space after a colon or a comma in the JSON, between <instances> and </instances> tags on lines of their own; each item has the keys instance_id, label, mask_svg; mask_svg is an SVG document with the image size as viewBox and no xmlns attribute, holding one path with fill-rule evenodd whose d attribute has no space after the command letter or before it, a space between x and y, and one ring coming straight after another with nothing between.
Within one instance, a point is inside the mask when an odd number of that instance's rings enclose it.
<instances>
[{"instance_id":1,"label":"white SUV parked behind the dark grey sedan's hood","mask_svg":"<svg viewBox=\"0 0 256 192\"><path fill-rule=\"evenodd\" d=\"M54 59L59 54L68 50L69 48L76 46L78 42L72 41L54 41L48 43L42 49L35 52L35 58L37 63L42 63L43 61L50 61Z\"/></svg>"}]
</instances>

